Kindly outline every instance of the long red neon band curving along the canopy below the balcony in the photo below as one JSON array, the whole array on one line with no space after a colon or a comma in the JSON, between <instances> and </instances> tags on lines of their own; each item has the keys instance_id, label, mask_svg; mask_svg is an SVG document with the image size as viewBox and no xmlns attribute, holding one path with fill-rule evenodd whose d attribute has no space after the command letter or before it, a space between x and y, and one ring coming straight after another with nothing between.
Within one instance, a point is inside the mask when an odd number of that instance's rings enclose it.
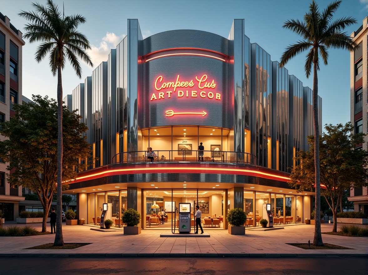
<instances>
[{"instance_id":1,"label":"long red neon band curving along the canopy below the balcony","mask_svg":"<svg viewBox=\"0 0 368 275\"><path fill-rule=\"evenodd\" d=\"M87 176L80 176L80 177L77 177L76 180L77 181L81 179L88 180L88 179L98 178L101 175L109 176L109 175L116 175L116 174L121 174L121 173L126 173L126 172L132 172L133 174L141 174L142 172L144 172L145 174L147 174L147 173L166 173L166 172L171 172L171 171L177 172L177 173L180 173L180 172L203 173L205 171L206 173L210 173L210 174L221 174L221 172L223 172L223 174L261 176L263 178L275 179L275 180L280 180L284 182L287 182L290 180L290 178L288 177L277 176L277 175L260 172L260 171L254 171L250 169L231 169L231 168L225 169L225 168L207 168L207 167L205 168L205 170L203 167L122 168L122 169L113 169L113 170L98 172L98 173L87 175Z\"/></svg>"}]
</instances>

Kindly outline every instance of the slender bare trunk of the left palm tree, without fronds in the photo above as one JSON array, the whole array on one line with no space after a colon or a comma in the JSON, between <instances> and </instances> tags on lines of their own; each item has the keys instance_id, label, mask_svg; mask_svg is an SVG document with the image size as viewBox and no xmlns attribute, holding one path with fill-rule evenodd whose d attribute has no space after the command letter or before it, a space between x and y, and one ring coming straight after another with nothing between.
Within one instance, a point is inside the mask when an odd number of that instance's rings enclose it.
<instances>
[{"instance_id":1,"label":"slender bare trunk of the left palm tree, without fronds","mask_svg":"<svg viewBox=\"0 0 368 275\"><path fill-rule=\"evenodd\" d=\"M62 215L62 174L63 174L63 86L61 84L61 64L57 66L57 214L54 246L63 246L61 229Z\"/></svg>"}]
</instances>

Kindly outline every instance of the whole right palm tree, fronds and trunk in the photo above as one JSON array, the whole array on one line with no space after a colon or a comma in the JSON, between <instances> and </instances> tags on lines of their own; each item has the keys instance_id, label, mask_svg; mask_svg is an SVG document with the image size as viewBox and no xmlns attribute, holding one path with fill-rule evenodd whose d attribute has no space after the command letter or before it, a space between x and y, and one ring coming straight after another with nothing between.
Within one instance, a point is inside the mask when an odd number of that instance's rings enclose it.
<instances>
[{"instance_id":1,"label":"whole right palm tree, fronds and trunk","mask_svg":"<svg viewBox=\"0 0 368 275\"><path fill-rule=\"evenodd\" d=\"M315 166L315 230L313 244L323 246L321 235L321 185L319 173L319 125L318 125L318 77L319 55L323 63L327 65L328 49L346 49L353 51L357 44L353 42L343 30L355 24L352 17L344 17L332 20L333 14L339 8L342 1L334 1L321 13L318 5L313 0L309 5L309 11L304 15L304 21L291 19L285 22L283 28L290 29L302 37L298 43L290 45L284 51L280 67L287 61L301 53L308 51L305 60L305 75L309 78L313 64L313 123L314 123L314 166Z\"/></svg>"}]
</instances>

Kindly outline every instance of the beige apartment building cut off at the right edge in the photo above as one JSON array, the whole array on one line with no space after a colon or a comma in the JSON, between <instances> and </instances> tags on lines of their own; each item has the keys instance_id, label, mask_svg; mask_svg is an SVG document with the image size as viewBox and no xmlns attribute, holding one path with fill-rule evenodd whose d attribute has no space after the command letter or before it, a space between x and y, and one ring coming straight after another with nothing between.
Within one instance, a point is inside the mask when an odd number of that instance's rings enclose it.
<instances>
[{"instance_id":1,"label":"beige apartment building cut off at the right edge","mask_svg":"<svg viewBox=\"0 0 368 275\"><path fill-rule=\"evenodd\" d=\"M363 25L351 34L351 38L360 47L350 54L350 118L354 123L355 133L368 133L368 90L367 90L367 39L368 17ZM368 149L367 137L365 143L357 148ZM354 202L354 211L368 214L367 187L350 190L349 201Z\"/></svg>"}]
</instances>

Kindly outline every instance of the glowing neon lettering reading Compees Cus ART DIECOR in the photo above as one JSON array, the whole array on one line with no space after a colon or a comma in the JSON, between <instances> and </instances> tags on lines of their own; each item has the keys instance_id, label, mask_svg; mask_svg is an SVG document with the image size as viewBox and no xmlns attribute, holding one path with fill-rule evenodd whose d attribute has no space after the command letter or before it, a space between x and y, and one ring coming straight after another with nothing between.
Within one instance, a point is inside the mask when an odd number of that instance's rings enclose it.
<instances>
[{"instance_id":1,"label":"glowing neon lettering reading Compees Cus ART DIECOR","mask_svg":"<svg viewBox=\"0 0 368 275\"><path fill-rule=\"evenodd\" d=\"M161 91L163 89L172 89L170 91L166 92L159 92L152 93L151 101L153 100L159 100L159 99L165 99L165 98L171 98L171 94L176 92L177 88L194 88L195 83L197 83L197 87L199 90L178 90L177 91L177 97L202 97L202 98L209 98L209 99L216 99L221 100L221 94L216 92L206 92L203 91L203 89L215 89L216 83L215 80L212 79L212 81L207 81L208 76L206 74L202 75L200 78L198 76L195 77L195 81L191 79L190 81L180 81L180 75L177 76L176 81L167 81L165 82L163 79L163 76L160 75L156 78L155 81L155 89L156 91ZM195 88L194 88L195 89Z\"/></svg>"}]
</instances>

